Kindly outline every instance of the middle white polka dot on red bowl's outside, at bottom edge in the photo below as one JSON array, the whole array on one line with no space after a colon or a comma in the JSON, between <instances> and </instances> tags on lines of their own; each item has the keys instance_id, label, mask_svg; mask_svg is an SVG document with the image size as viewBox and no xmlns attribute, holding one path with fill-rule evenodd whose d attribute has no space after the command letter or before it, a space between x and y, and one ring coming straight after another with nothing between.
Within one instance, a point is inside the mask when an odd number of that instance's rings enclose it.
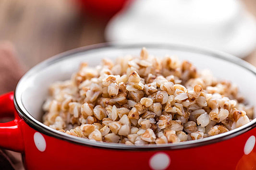
<instances>
[{"instance_id":1,"label":"middle white polka dot on red bowl's outside, at bottom edge","mask_svg":"<svg viewBox=\"0 0 256 170\"><path fill-rule=\"evenodd\" d=\"M149 166L153 170L165 170L171 163L170 157L165 153L157 153L149 159Z\"/></svg>"}]
</instances>

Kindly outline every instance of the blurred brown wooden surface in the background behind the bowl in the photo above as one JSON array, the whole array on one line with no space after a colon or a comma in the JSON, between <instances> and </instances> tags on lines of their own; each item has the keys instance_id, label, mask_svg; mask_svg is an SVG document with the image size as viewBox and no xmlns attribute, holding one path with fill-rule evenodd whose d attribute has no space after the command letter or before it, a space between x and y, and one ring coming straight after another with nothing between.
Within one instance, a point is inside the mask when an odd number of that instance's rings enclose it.
<instances>
[{"instance_id":1,"label":"blurred brown wooden surface in the background behind the bowl","mask_svg":"<svg viewBox=\"0 0 256 170\"><path fill-rule=\"evenodd\" d=\"M256 17L256 0L243 2ZM81 15L73 0L0 0L0 43L14 45L24 70L58 53L105 42L106 23ZM244 59L256 66L256 50ZM15 169L23 169L20 154L12 155Z\"/></svg>"}]
</instances>

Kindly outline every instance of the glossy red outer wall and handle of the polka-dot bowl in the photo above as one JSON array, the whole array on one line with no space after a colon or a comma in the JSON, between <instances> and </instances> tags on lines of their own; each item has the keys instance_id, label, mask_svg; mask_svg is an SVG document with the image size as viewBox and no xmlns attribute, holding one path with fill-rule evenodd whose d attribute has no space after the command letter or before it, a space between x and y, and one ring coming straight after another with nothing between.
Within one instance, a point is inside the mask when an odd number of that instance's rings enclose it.
<instances>
[{"instance_id":1,"label":"glossy red outer wall and handle of the polka-dot bowl","mask_svg":"<svg viewBox=\"0 0 256 170\"><path fill-rule=\"evenodd\" d=\"M244 145L248 138L256 135L256 128L204 146L127 150L92 147L43 134L29 126L15 111L13 93L0 96L0 115L7 114L14 115L15 119L0 123L0 147L21 152L25 168L28 170L145 170L154 168L156 164L166 165L162 168L170 170L255 169L256 148L252 146L253 150L245 155Z\"/></svg>"}]
</instances>

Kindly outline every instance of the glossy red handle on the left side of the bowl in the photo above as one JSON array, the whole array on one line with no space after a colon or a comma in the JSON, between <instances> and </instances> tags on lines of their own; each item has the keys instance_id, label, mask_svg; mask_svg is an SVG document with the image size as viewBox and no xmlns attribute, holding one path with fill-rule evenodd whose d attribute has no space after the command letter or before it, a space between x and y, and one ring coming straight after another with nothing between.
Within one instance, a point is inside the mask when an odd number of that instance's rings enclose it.
<instances>
[{"instance_id":1,"label":"glossy red handle on the left side of the bowl","mask_svg":"<svg viewBox=\"0 0 256 170\"><path fill-rule=\"evenodd\" d=\"M14 120L0 123L0 147L16 152L23 152L24 140L20 127L22 119L15 111L13 92L0 96L0 117L6 116L14 116Z\"/></svg>"}]
</instances>

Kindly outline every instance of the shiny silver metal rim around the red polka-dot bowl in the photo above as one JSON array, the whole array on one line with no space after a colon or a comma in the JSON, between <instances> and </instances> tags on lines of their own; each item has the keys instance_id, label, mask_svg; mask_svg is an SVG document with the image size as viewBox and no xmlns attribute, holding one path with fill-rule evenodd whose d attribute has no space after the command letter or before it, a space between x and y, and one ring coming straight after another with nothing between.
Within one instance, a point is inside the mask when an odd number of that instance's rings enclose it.
<instances>
[{"instance_id":1,"label":"shiny silver metal rim around the red polka-dot bowl","mask_svg":"<svg viewBox=\"0 0 256 170\"><path fill-rule=\"evenodd\" d=\"M58 130L55 130L53 128L50 128L47 125L44 125L40 121L36 120L31 114L29 114L29 112L25 109L24 105L22 104L21 96L17 96L17 91L19 90L20 83L25 79L28 79L30 75L37 73L37 71L44 69L45 67L48 67L51 64L54 64L65 58L71 57L72 55L75 55L78 53L83 53L84 55L86 55L86 53L90 53L90 52L93 53L95 52L95 50L97 52L98 50L104 50L108 48L125 49L125 48L138 48L138 47L141 48L143 46L146 46L148 48L178 49L178 50L187 51L187 52L194 52L197 54L206 54L210 57L217 57L219 59L223 59L225 61L236 64L244 69L247 69L248 71L252 72L256 76L256 68L238 57L234 57L230 54L220 52L217 50L201 48L201 47L192 46L192 45L151 44L151 43L126 44L126 43L115 43L115 42L88 45L84 47L75 48L73 50L69 50L61 54L58 54L56 56L50 57L49 59L42 61L36 66L34 66L33 68L29 69L23 75L23 77L19 80L19 82L16 85L16 89L14 91L13 102L14 102L14 106L16 108L17 113L26 122L27 125L29 125L33 129L47 136L56 137L61 140L65 140L65 141L72 142L79 145L84 145L87 147L99 147L99 148L122 149L122 150L166 150L166 149L181 149L181 148L204 146L204 145L213 144L216 142L220 142L220 141L227 140L232 137L241 135L253 129L256 126L256 118L255 118L251 122L247 123L246 125L243 125L229 132L222 133L216 136L209 136L200 140L191 140L191 141L161 144L161 145L152 144L152 145L139 145L139 146L132 145L131 146L131 145L107 143L107 142L95 142L82 137L68 135Z\"/></svg>"}]
</instances>

